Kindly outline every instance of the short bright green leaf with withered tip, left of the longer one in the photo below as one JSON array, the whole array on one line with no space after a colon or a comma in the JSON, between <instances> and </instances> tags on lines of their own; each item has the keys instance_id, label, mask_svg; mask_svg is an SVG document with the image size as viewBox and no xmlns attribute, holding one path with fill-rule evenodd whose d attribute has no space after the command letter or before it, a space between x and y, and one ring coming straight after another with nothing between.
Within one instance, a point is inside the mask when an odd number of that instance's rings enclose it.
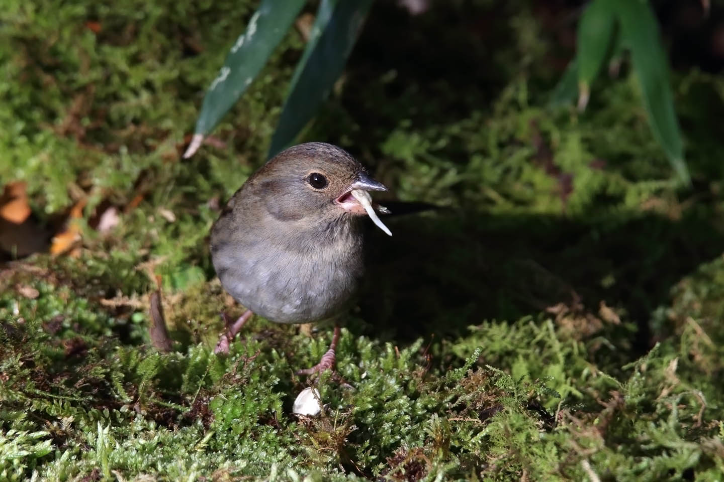
<instances>
[{"instance_id":1,"label":"short bright green leaf with withered tip, left of the longer one","mask_svg":"<svg viewBox=\"0 0 724 482\"><path fill-rule=\"evenodd\" d=\"M610 51L615 27L615 4L609 0L594 0L584 10L578 22L578 108L588 104L590 87Z\"/></svg>"}]
</instances>

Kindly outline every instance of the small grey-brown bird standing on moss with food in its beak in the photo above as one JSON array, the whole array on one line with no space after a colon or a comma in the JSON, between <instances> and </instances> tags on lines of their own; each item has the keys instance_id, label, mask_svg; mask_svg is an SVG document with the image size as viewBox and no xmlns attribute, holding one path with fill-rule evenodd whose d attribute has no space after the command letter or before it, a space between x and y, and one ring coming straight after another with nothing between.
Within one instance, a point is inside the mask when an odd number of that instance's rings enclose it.
<instances>
[{"instance_id":1,"label":"small grey-brown bird standing on moss with food in its beak","mask_svg":"<svg viewBox=\"0 0 724 482\"><path fill-rule=\"evenodd\" d=\"M252 312L277 323L334 319L321 361L334 367L343 313L363 274L361 215L392 236L368 191L386 191L348 152L323 142L280 152L248 178L211 228L211 260L224 289L246 311L216 345L229 343Z\"/></svg>"}]
</instances>

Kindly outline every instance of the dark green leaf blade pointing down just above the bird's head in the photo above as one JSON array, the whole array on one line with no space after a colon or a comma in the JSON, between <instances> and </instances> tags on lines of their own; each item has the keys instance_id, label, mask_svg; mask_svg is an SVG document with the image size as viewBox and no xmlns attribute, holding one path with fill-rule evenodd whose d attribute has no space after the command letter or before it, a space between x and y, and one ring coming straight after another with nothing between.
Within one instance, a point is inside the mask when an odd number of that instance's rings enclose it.
<instances>
[{"instance_id":1,"label":"dark green leaf blade pointing down just above the bird's head","mask_svg":"<svg viewBox=\"0 0 724 482\"><path fill-rule=\"evenodd\" d=\"M290 145L329 95L357 40L372 0L322 0L306 51L271 138L269 157Z\"/></svg>"}]
</instances>

